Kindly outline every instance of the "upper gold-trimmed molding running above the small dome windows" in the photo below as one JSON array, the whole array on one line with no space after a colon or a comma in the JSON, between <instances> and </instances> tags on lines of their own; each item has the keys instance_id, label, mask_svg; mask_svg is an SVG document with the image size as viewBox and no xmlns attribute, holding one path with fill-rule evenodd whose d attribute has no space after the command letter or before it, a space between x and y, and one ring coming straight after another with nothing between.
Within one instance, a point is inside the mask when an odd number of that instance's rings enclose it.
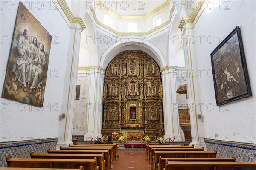
<instances>
[{"instance_id":1,"label":"upper gold-trimmed molding running above the small dome windows","mask_svg":"<svg viewBox=\"0 0 256 170\"><path fill-rule=\"evenodd\" d=\"M113 14L118 19L124 19L124 18L144 18L144 19L146 19L147 17L150 17L154 13L159 12L161 9L163 9L166 6L170 6L170 4L171 4L171 0L166 0L165 3L158 6L157 8L153 9L151 12L149 12L148 14L145 14L145 15L119 15L119 14L116 14L116 12L113 12L108 7L102 5L102 3L99 0L95 0L95 2L96 2L96 5L100 6L101 9L107 9L109 13Z\"/></svg>"}]
</instances>

